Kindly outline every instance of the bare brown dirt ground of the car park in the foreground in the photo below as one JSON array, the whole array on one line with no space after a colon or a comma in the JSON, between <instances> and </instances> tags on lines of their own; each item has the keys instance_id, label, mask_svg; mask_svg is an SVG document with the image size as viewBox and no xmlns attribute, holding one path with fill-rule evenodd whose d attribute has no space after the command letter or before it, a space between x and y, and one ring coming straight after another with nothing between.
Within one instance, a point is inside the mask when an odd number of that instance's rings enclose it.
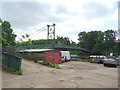
<instances>
[{"instance_id":1,"label":"bare brown dirt ground of the car park in the foreground","mask_svg":"<svg viewBox=\"0 0 120 90\"><path fill-rule=\"evenodd\" d=\"M61 69L23 60L23 75L3 71L3 88L118 88L118 68L87 62L65 62Z\"/></svg>"}]
</instances>

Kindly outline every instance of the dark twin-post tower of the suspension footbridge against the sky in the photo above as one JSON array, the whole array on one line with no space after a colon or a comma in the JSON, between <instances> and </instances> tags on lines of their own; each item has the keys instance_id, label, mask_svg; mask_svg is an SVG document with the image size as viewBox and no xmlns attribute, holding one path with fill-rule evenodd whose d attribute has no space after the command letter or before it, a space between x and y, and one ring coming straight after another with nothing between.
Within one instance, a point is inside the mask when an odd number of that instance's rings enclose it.
<instances>
[{"instance_id":1,"label":"dark twin-post tower of the suspension footbridge against the sky","mask_svg":"<svg viewBox=\"0 0 120 90\"><path fill-rule=\"evenodd\" d=\"M52 44L54 46L54 44L55 44L55 24L53 23L53 25L47 25L47 30L48 30L48 34L47 34L48 43L51 43L50 41L52 41Z\"/></svg>"}]
</instances>

